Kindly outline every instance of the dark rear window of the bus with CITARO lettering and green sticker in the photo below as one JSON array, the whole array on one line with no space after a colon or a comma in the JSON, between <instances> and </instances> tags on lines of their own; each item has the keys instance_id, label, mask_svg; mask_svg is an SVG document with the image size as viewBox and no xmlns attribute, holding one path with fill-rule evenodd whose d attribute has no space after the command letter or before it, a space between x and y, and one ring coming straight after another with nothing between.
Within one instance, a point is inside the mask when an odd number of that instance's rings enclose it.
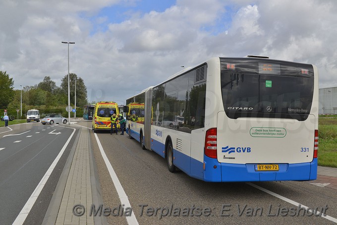
<instances>
[{"instance_id":1,"label":"dark rear window of the bus with CITARO lettering and green sticker","mask_svg":"<svg viewBox=\"0 0 337 225\"><path fill-rule=\"evenodd\" d=\"M223 103L229 118L308 117L314 90L312 65L222 58L221 68Z\"/></svg>"}]
</instances>

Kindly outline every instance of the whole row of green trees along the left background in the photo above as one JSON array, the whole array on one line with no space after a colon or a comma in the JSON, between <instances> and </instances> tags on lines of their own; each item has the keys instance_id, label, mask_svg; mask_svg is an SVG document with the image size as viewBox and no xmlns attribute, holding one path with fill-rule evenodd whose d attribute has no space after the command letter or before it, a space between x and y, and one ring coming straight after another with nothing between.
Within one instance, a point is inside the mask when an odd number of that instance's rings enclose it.
<instances>
[{"instance_id":1,"label":"whole row of green trees along the left background","mask_svg":"<svg viewBox=\"0 0 337 225\"><path fill-rule=\"evenodd\" d=\"M69 74L70 80L70 105L74 107L75 102L75 79L76 79L76 108L82 109L88 104L87 87L81 77L75 73ZM68 105L68 74L61 79L61 85L50 76L45 76L43 81L33 86L24 86L22 89L14 90L14 80L6 73L0 71L0 109L16 110L21 106L22 113L28 109L53 110L61 109ZM1 114L2 115L2 114ZM16 115L16 111L15 111Z\"/></svg>"}]
</instances>

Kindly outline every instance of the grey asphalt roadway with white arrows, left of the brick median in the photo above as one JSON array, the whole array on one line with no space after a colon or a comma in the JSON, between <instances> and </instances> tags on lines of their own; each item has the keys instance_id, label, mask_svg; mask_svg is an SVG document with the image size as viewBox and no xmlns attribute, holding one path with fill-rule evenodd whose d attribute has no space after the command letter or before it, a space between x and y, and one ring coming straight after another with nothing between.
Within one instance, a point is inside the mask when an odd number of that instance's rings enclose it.
<instances>
[{"instance_id":1,"label":"grey asphalt roadway with white arrows, left of the brick median","mask_svg":"<svg viewBox=\"0 0 337 225\"><path fill-rule=\"evenodd\" d=\"M73 132L73 128L61 125L24 123L2 127L0 133L0 224L12 224L36 189L46 171ZM71 145L69 145L71 146ZM43 185L39 199L40 207L30 213L36 215L34 222L42 223L51 194L55 190L60 171L69 153L65 149L63 157L56 165L52 179ZM41 186L42 187L42 186Z\"/></svg>"}]
</instances>

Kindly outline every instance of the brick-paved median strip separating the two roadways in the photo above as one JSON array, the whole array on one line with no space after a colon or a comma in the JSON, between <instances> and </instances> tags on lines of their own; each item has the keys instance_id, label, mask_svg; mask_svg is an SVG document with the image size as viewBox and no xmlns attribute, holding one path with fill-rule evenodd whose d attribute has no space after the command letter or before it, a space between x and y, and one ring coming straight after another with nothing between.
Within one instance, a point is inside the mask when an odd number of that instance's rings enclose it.
<instances>
[{"instance_id":1,"label":"brick-paved median strip separating the two roadways","mask_svg":"<svg viewBox=\"0 0 337 225\"><path fill-rule=\"evenodd\" d=\"M93 204L89 159L89 130L81 128L80 132L59 207L56 225L94 225L94 217L90 217L87 213ZM73 208L78 204L84 206L86 210L84 215L80 217L73 214ZM79 208L78 212L81 212L81 210Z\"/></svg>"}]
</instances>

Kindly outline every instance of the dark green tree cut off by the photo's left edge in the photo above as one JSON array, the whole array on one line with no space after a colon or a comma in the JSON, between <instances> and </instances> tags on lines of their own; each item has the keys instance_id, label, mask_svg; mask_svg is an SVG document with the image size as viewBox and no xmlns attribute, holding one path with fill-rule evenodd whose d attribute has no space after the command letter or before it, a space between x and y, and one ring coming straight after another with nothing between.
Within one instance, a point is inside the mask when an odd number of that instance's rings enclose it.
<instances>
[{"instance_id":1,"label":"dark green tree cut off by the photo's left edge","mask_svg":"<svg viewBox=\"0 0 337 225\"><path fill-rule=\"evenodd\" d=\"M14 81L6 71L0 71L0 109L7 108L14 96Z\"/></svg>"}]
</instances>

